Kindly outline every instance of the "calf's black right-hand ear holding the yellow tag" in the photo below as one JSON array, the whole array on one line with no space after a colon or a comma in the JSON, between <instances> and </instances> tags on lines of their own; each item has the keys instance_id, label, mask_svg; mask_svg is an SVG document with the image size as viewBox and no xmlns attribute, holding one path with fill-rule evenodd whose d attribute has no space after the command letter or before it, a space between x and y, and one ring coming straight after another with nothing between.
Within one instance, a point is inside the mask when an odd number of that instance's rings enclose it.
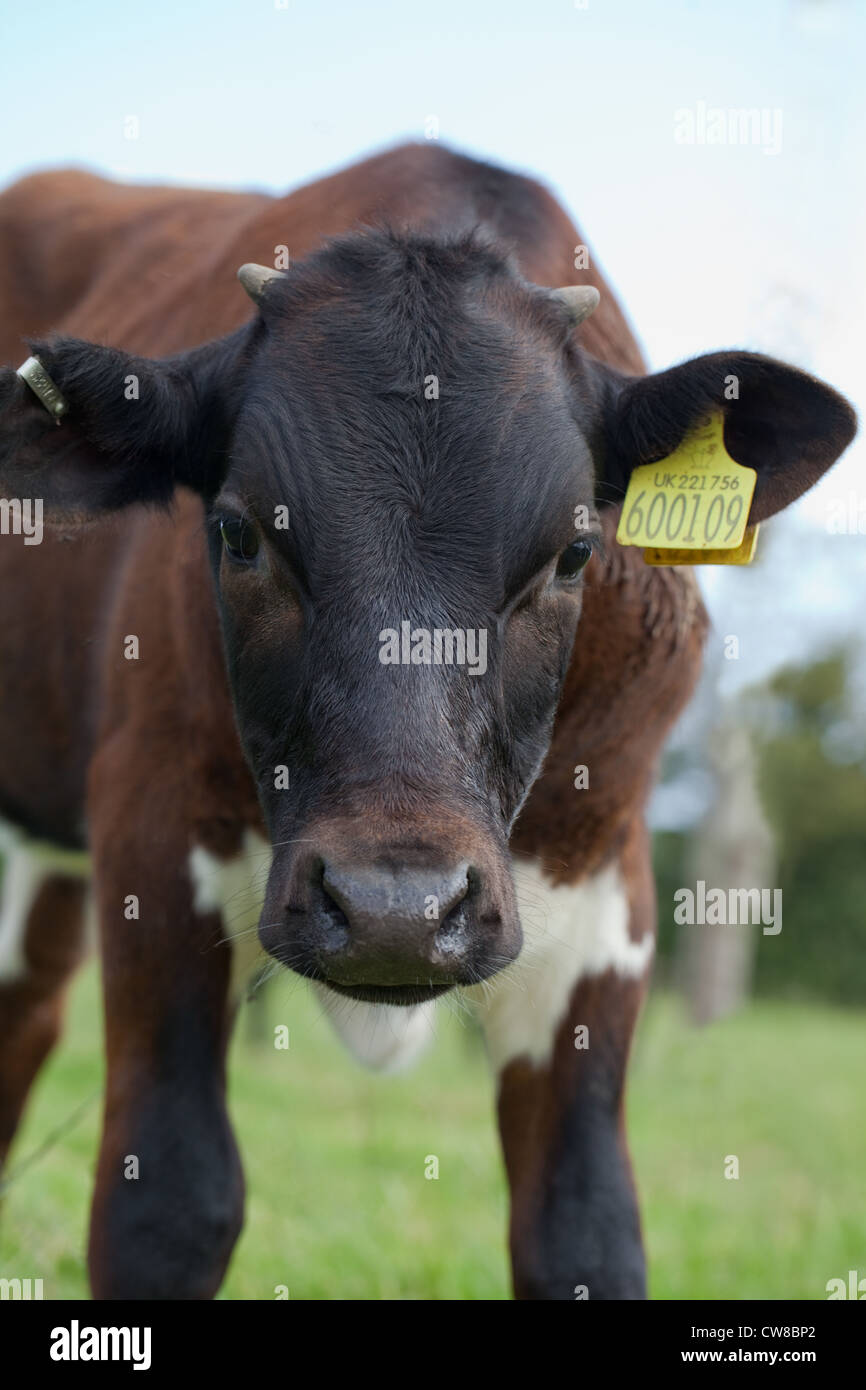
<instances>
[{"instance_id":1,"label":"calf's black right-hand ear holding the yellow tag","mask_svg":"<svg viewBox=\"0 0 866 1390\"><path fill-rule=\"evenodd\" d=\"M781 512L835 463L856 432L844 396L805 371L749 352L716 352L648 377L591 364L601 402L602 500L623 498L632 468L655 463L712 410L724 443L758 473L749 521Z\"/></svg>"}]
</instances>

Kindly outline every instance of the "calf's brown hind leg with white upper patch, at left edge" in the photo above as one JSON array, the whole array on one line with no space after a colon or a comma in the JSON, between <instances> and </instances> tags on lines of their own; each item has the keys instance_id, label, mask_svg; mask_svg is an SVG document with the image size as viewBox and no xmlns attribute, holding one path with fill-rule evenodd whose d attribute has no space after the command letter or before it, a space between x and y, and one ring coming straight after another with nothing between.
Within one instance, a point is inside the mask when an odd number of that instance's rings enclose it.
<instances>
[{"instance_id":1,"label":"calf's brown hind leg with white upper patch, at left edge","mask_svg":"<svg viewBox=\"0 0 866 1390\"><path fill-rule=\"evenodd\" d=\"M64 852L56 856L63 862ZM65 984L82 956L86 884L47 847L7 845L0 897L0 1163L29 1088L60 1034Z\"/></svg>"}]
</instances>

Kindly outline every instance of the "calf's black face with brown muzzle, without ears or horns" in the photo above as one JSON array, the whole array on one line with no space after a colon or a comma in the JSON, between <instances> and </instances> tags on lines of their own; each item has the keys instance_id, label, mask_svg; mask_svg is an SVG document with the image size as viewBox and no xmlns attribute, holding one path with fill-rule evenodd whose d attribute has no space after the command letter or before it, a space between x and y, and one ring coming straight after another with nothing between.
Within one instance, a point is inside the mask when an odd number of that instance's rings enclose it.
<instances>
[{"instance_id":1,"label":"calf's black face with brown muzzle, without ears or horns","mask_svg":"<svg viewBox=\"0 0 866 1390\"><path fill-rule=\"evenodd\" d=\"M563 320L487 250L386 236L264 304L210 509L261 937L356 998L520 949L507 838L598 530Z\"/></svg>"}]
</instances>

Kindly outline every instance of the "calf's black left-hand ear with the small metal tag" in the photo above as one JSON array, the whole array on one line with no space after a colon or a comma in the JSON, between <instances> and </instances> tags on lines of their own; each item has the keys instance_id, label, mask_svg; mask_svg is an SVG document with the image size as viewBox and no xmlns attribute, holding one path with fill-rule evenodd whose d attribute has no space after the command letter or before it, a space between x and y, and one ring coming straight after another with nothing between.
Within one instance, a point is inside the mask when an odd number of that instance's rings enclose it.
<instances>
[{"instance_id":1,"label":"calf's black left-hand ear with the small metal tag","mask_svg":"<svg viewBox=\"0 0 866 1390\"><path fill-rule=\"evenodd\" d=\"M243 332L161 361L76 338L32 342L33 379L44 398L47 374L65 410L57 417L0 368L0 493L40 498L46 520L61 523L165 503L178 484L213 495Z\"/></svg>"}]
</instances>

